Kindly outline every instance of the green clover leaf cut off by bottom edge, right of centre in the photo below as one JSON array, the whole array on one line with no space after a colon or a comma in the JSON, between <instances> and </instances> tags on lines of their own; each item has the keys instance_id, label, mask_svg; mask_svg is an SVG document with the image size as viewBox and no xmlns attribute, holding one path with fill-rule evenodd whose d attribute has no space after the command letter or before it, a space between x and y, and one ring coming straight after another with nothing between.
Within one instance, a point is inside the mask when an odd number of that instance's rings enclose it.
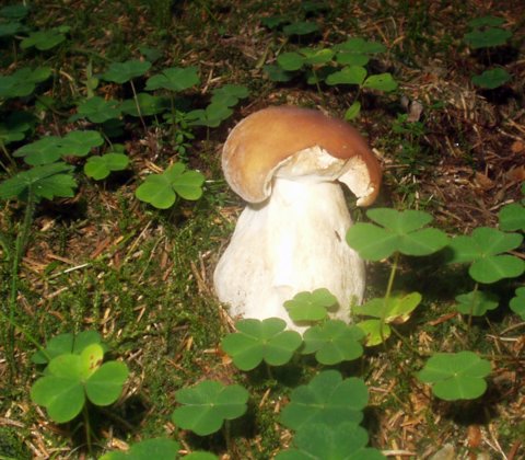
<instances>
[{"instance_id":1,"label":"green clover leaf cut off by bottom edge, right of centre","mask_svg":"<svg viewBox=\"0 0 525 460\"><path fill-rule=\"evenodd\" d=\"M382 460L385 457L366 447L369 434L361 426L341 423L335 427L312 424L293 437L293 446L277 455L276 460Z\"/></svg>"}]
</instances>

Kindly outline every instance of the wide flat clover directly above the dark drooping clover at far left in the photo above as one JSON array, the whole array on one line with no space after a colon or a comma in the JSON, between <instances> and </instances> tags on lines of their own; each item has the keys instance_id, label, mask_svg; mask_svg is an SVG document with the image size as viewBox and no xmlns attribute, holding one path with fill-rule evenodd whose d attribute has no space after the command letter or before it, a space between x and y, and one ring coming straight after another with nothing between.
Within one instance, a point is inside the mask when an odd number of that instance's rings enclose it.
<instances>
[{"instance_id":1,"label":"wide flat clover directly above the dark drooping clover at far left","mask_svg":"<svg viewBox=\"0 0 525 460\"><path fill-rule=\"evenodd\" d=\"M65 137L47 136L26 143L14 152L27 164L50 164L63 157L85 157L91 149L104 143L98 131L70 131Z\"/></svg>"}]
</instances>

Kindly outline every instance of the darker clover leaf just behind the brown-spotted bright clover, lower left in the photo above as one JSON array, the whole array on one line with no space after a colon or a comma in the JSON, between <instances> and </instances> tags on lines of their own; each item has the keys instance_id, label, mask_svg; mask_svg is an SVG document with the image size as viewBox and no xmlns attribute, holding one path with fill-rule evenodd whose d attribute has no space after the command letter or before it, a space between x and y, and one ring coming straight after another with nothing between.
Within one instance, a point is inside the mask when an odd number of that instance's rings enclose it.
<instances>
[{"instance_id":1,"label":"darker clover leaf just behind the brown-spotted bright clover, lower left","mask_svg":"<svg viewBox=\"0 0 525 460\"><path fill-rule=\"evenodd\" d=\"M35 353L31 360L35 364L47 364L52 358L66 354L80 354L89 345L98 344L105 350L101 334L96 331L82 331L79 334L65 333L52 337L44 350Z\"/></svg>"}]
</instances>

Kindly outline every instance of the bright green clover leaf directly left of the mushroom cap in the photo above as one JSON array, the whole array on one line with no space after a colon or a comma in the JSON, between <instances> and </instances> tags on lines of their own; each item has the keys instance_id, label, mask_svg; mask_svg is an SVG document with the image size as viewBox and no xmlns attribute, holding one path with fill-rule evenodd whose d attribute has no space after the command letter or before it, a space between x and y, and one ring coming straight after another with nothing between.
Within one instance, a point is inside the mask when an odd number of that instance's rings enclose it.
<instances>
[{"instance_id":1,"label":"bright green clover leaf directly left of the mushroom cap","mask_svg":"<svg viewBox=\"0 0 525 460\"><path fill-rule=\"evenodd\" d=\"M139 185L136 196L159 209L172 207L177 195L197 200L202 196L205 176L198 171L186 171L182 163L171 165L162 174L151 174Z\"/></svg>"}]
</instances>

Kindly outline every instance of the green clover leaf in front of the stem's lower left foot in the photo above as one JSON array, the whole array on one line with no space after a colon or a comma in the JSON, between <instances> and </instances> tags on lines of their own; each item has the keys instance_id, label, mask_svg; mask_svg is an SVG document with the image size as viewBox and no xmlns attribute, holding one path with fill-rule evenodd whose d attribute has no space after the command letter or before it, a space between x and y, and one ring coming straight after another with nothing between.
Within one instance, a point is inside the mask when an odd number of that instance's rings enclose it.
<instances>
[{"instance_id":1,"label":"green clover leaf in front of the stem's lower left foot","mask_svg":"<svg viewBox=\"0 0 525 460\"><path fill-rule=\"evenodd\" d=\"M282 366L302 344L301 335L285 331L287 323L279 318L241 320L235 327L237 332L226 335L221 345L241 370L255 369L262 360Z\"/></svg>"}]
</instances>

